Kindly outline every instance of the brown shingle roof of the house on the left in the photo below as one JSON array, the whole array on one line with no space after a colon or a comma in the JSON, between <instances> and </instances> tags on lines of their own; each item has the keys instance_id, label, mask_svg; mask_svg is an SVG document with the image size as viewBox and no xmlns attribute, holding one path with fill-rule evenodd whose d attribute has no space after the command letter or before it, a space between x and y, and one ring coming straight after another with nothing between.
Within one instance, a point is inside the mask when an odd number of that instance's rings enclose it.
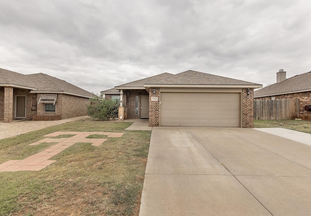
<instances>
[{"instance_id":1,"label":"brown shingle roof of the house on the left","mask_svg":"<svg viewBox=\"0 0 311 216\"><path fill-rule=\"evenodd\" d=\"M16 87L32 90L35 92L44 93L67 93L82 97L92 97L93 94L83 90L75 85L72 85L65 80L51 77L47 74L29 74L23 75L13 71L8 71L0 68L0 85L14 85Z\"/></svg>"}]
</instances>

